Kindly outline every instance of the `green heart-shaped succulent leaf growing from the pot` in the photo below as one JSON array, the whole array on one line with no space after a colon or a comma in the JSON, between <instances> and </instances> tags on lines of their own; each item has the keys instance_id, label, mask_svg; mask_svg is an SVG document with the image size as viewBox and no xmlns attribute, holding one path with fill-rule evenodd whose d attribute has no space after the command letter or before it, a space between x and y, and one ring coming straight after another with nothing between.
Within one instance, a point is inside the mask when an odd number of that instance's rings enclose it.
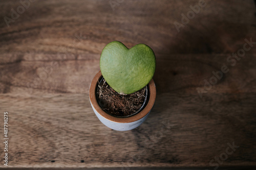
<instances>
[{"instance_id":1,"label":"green heart-shaped succulent leaf growing from the pot","mask_svg":"<svg viewBox=\"0 0 256 170\"><path fill-rule=\"evenodd\" d=\"M113 41L103 48L100 56L102 76L120 94L131 94L145 87L155 69L155 54L145 44L129 49L123 43Z\"/></svg>"}]
</instances>

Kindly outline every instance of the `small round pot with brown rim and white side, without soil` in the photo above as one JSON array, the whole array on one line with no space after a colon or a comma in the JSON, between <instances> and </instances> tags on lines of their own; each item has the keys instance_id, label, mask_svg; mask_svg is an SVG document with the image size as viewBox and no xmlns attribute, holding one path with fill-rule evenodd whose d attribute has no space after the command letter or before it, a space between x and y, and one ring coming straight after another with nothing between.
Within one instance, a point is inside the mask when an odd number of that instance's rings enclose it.
<instances>
[{"instance_id":1,"label":"small round pot with brown rim and white side, without soil","mask_svg":"<svg viewBox=\"0 0 256 170\"><path fill-rule=\"evenodd\" d=\"M95 112L96 116L99 118L100 122L105 126L117 130L117 131L128 131L140 126L144 120L147 118L150 113L155 100L156 100L156 85L154 80L152 79L150 83L148 83L148 102L146 106L137 114L130 117L115 117L106 112L104 112L99 106L96 98L96 90L98 86L98 82L102 78L101 71L99 71L96 76L93 78L92 83L90 85L89 98Z\"/></svg>"}]
</instances>

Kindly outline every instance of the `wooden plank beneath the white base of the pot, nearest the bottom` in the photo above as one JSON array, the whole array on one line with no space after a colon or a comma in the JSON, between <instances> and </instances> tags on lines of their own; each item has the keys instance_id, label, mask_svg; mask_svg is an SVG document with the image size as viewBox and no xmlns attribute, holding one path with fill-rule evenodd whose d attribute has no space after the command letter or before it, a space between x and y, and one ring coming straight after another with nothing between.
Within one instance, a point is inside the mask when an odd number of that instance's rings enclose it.
<instances>
[{"instance_id":1,"label":"wooden plank beneath the white base of the pot, nearest the bottom","mask_svg":"<svg viewBox=\"0 0 256 170\"><path fill-rule=\"evenodd\" d=\"M232 142L240 148L222 165L255 165L255 96L158 94L145 123L126 132L101 124L88 94L7 93L0 102L11 167L207 166Z\"/></svg>"}]
</instances>

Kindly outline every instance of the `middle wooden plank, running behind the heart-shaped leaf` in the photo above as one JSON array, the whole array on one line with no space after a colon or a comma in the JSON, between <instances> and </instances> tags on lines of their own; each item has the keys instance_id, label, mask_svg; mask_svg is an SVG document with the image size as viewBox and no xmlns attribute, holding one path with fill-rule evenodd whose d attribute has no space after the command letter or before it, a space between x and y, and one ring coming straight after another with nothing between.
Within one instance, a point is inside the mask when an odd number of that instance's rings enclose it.
<instances>
[{"instance_id":1,"label":"middle wooden plank, running behind the heart-shaped leaf","mask_svg":"<svg viewBox=\"0 0 256 170\"><path fill-rule=\"evenodd\" d=\"M8 54L7 54L8 55ZM6 57L6 64L0 65L2 92L33 93L68 92L88 93L90 83L99 71L100 55L52 55L52 54L12 54ZM23 56L22 60L18 56ZM34 57L34 60L31 59ZM65 57L67 56L67 57ZM223 65L229 69L213 85L208 93L256 92L255 65L256 56L246 54L232 66L227 62L230 55L161 55L157 56L157 70L154 80L157 92L197 93L197 88L204 90L204 80L210 82L212 71L221 71ZM8 58L8 59L7 59ZM41 59L43 58L43 59ZM4 63L3 62L3 63ZM212 81L214 82L214 81Z\"/></svg>"}]
</instances>

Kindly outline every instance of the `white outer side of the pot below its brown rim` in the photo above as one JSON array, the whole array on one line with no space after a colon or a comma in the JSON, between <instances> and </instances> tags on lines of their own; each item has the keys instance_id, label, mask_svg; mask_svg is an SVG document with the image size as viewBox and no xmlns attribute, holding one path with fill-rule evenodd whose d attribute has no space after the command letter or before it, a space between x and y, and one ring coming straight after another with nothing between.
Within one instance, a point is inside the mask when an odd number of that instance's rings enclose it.
<instances>
[{"instance_id":1,"label":"white outer side of the pot below its brown rim","mask_svg":"<svg viewBox=\"0 0 256 170\"><path fill-rule=\"evenodd\" d=\"M92 105L92 103L91 103L91 105ZM145 121L147 116L150 114L150 112L148 112L144 117L142 117L141 119L139 119L139 120L137 120L135 122L131 122L131 123L117 123L117 122L112 122L111 120L108 120L108 119L104 118L103 116L101 116L95 110L93 105L92 105L92 108L93 108L94 113L99 118L99 120L100 120L100 122L102 124L104 124L105 126L111 128L113 130L116 130L116 131L129 131L129 130L132 130L134 128L137 128L138 126L140 126Z\"/></svg>"}]
</instances>

